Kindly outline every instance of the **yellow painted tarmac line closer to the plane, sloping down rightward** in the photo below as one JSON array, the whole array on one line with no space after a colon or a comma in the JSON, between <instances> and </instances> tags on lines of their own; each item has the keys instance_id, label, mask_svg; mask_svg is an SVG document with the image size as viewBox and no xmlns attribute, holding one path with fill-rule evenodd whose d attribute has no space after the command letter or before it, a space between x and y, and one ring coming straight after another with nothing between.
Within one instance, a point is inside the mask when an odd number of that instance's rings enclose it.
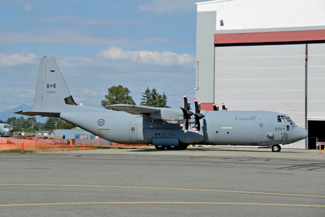
<instances>
[{"instance_id":1,"label":"yellow painted tarmac line closer to the plane, sloping down rightward","mask_svg":"<svg viewBox=\"0 0 325 217\"><path fill-rule=\"evenodd\" d=\"M160 188L160 187L136 187L136 186L102 186L102 185L55 185L55 184L0 184L0 186L52 186L52 187L91 187L91 188L120 188L120 189L153 189L153 190L178 190L178 191L203 191L203 192L222 192L222 193L241 193L241 194L263 194L278 196L294 196L294 197L317 197L325 198L325 196L303 195L303 194L286 194L286 193L270 193L270 192L252 192L252 191L229 191L229 190L213 190L213 189L185 189L185 188Z\"/></svg>"}]
</instances>

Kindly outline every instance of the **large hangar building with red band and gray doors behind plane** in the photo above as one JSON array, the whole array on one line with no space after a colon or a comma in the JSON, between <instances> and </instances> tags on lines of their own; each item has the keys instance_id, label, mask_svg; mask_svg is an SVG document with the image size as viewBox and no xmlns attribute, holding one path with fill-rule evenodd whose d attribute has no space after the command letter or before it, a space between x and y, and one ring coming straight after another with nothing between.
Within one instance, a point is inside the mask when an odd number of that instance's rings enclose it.
<instances>
[{"instance_id":1,"label":"large hangar building with red band and gray doors behind plane","mask_svg":"<svg viewBox=\"0 0 325 217\"><path fill-rule=\"evenodd\" d=\"M325 139L325 1L197 3L196 56L203 105L287 114L309 139L285 147Z\"/></svg>"}]
</instances>

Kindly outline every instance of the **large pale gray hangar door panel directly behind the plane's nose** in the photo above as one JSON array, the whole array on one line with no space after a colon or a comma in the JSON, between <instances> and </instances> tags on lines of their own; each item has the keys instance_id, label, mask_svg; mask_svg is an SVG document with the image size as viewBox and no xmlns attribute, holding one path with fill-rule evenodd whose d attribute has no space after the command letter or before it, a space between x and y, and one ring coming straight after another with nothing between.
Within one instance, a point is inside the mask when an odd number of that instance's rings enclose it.
<instances>
[{"instance_id":1,"label":"large pale gray hangar door panel directly behind the plane's nose","mask_svg":"<svg viewBox=\"0 0 325 217\"><path fill-rule=\"evenodd\" d=\"M282 112L305 127L305 52L305 44L215 47L214 102Z\"/></svg>"}]
</instances>

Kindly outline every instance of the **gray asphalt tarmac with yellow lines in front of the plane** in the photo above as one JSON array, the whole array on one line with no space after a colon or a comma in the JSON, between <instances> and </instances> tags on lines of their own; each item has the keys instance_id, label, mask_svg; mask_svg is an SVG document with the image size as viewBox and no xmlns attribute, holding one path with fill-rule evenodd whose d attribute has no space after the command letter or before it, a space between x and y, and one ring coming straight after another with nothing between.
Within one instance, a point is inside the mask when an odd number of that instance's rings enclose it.
<instances>
[{"instance_id":1,"label":"gray asphalt tarmac with yellow lines in front of the plane","mask_svg":"<svg viewBox=\"0 0 325 217\"><path fill-rule=\"evenodd\" d=\"M1 216L325 216L316 150L0 154Z\"/></svg>"}]
</instances>

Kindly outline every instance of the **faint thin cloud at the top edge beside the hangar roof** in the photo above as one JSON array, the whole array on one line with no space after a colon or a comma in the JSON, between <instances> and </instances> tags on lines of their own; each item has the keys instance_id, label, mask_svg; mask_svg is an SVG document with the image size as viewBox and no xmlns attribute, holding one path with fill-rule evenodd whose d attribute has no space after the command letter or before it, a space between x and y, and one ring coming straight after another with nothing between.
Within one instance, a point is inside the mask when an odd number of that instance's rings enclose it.
<instances>
[{"instance_id":1,"label":"faint thin cloud at the top edge beside the hangar roof","mask_svg":"<svg viewBox=\"0 0 325 217\"><path fill-rule=\"evenodd\" d=\"M138 10L156 14L171 13L175 11L193 11L196 8L194 0L149 0L147 4L139 5Z\"/></svg>"}]
</instances>

